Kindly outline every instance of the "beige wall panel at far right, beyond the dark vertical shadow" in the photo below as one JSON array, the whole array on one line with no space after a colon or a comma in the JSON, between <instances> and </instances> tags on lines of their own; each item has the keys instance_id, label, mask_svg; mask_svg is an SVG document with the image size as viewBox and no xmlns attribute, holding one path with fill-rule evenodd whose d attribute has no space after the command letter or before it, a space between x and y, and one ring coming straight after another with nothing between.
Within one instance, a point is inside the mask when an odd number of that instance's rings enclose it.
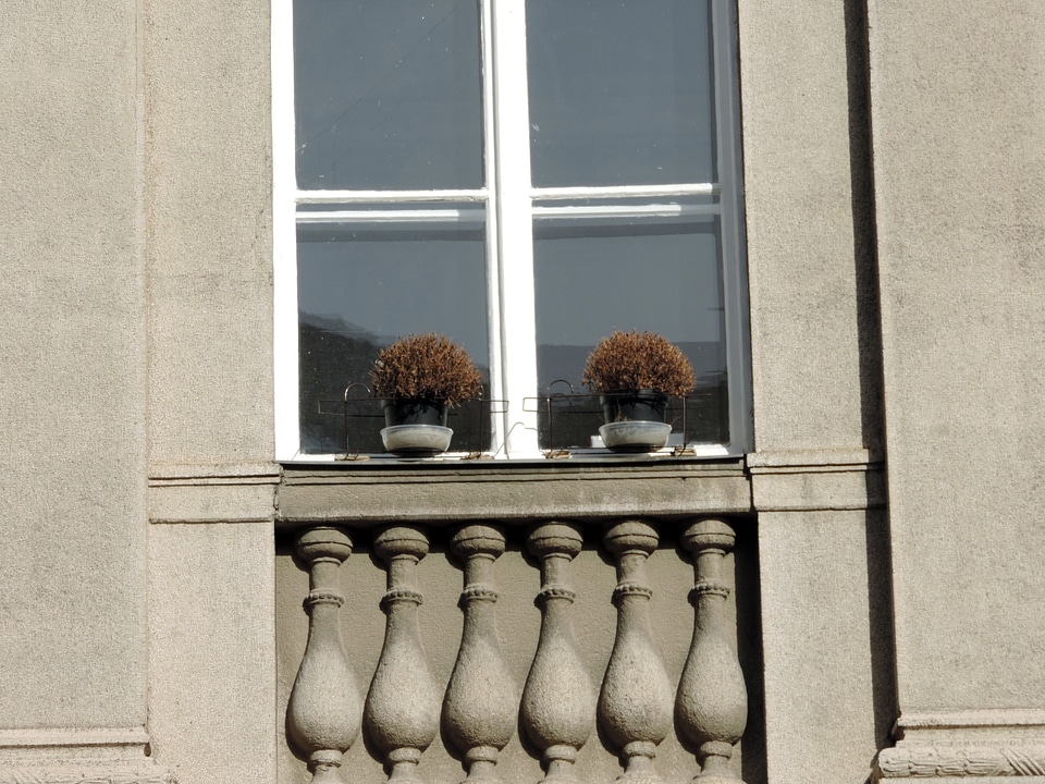
<instances>
[{"instance_id":1,"label":"beige wall panel at far right, beyond the dark vertical shadow","mask_svg":"<svg viewBox=\"0 0 1045 784\"><path fill-rule=\"evenodd\" d=\"M900 713L1040 708L1045 5L869 15Z\"/></svg>"}]
</instances>

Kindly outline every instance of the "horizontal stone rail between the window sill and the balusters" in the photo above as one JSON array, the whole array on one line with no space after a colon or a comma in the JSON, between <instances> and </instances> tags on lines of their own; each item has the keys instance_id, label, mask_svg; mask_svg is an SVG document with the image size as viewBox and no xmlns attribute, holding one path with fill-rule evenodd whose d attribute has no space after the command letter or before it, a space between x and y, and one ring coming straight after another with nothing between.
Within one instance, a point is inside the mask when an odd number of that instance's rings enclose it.
<instances>
[{"instance_id":1,"label":"horizontal stone rail between the window sill and the balusters","mask_svg":"<svg viewBox=\"0 0 1045 784\"><path fill-rule=\"evenodd\" d=\"M749 478L739 460L655 465L507 465L495 461L426 466L285 467L276 524L353 527L555 517L597 520L636 509L649 517L746 514Z\"/></svg>"}]
</instances>

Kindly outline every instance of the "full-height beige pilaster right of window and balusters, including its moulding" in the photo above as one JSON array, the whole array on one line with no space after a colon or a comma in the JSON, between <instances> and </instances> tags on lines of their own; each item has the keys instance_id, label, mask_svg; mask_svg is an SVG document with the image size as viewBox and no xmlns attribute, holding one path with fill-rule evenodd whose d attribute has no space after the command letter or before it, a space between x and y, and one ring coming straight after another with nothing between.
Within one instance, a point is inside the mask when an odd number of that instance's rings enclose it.
<instances>
[{"instance_id":1,"label":"full-height beige pilaster right of window and balusters, including its moulding","mask_svg":"<svg viewBox=\"0 0 1045 784\"><path fill-rule=\"evenodd\" d=\"M863 782L893 721L859 7L739 3L773 782Z\"/></svg>"}]
</instances>

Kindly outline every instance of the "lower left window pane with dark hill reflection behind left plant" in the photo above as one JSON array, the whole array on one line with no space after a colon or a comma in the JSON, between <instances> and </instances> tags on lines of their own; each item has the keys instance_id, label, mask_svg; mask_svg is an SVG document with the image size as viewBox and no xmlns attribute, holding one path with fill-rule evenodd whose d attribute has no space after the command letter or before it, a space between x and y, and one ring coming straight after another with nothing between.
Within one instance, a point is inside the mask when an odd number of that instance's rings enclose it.
<instances>
[{"instance_id":1,"label":"lower left window pane with dark hill reflection behind left plant","mask_svg":"<svg viewBox=\"0 0 1045 784\"><path fill-rule=\"evenodd\" d=\"M399 335L446 335L468 351L489 387L481 225L298 226L303 452L345 452L345 388L369 387L378 351ZM382 452L380 405L357 405L351 414L352 450ZM489 448L471 443L478 417L477 408L452 415L452 449Z\"/></svg>"}]
</instances>

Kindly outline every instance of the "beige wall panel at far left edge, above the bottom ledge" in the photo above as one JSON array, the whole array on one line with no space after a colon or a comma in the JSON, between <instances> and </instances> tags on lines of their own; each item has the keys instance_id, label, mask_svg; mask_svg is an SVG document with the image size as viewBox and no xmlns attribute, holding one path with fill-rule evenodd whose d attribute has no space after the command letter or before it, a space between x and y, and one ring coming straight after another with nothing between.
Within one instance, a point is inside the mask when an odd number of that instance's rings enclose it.
<instances>
[{"instance_id":1,"label":"beige wall panel at far left edge, above the bottom ledge","mask_svg":"<svg viewBox=\"0 0 1045 784\"><path fill-rule=\"evenodd\" d=\"M131 1L3 7L0 726L145 723Z\"/></svg>"}]
</instances>

